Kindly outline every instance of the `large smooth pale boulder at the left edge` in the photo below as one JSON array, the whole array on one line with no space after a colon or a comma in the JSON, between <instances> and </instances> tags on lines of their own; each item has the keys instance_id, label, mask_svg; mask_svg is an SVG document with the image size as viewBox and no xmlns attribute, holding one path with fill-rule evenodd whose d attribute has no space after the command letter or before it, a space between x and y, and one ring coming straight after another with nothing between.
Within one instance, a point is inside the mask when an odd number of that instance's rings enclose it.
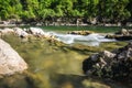
<instances>
[{"instance_id":1,"label":"large smooth pale boulder at the left edge","mask_svg":"<svg viewBox=\"0 0 132 88\"><path fill-rule=\"evenodd\" d=\"M0 75L13 75L28 68L22 57L0 38Z\"/></svg>"}]
</instances>

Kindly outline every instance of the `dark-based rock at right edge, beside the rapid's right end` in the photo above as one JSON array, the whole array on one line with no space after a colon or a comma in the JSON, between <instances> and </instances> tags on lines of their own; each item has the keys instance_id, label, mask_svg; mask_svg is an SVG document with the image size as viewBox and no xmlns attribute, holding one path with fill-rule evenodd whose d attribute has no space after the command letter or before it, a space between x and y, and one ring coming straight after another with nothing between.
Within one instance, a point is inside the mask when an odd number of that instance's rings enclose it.
<instances>
[{"instance_id":1,"label":"dark-based rock at right edge, beside the rapid's right end","mask_svg":"<svg viewBox=\"0 0 132 88\"><path fill-rule=\"evenodd\" d=\"M116 38L118 41L129 41L132 40L132 30L122 29L121 31L114 34L108 34L107 38Z\"/></svg>"}]
</instances>

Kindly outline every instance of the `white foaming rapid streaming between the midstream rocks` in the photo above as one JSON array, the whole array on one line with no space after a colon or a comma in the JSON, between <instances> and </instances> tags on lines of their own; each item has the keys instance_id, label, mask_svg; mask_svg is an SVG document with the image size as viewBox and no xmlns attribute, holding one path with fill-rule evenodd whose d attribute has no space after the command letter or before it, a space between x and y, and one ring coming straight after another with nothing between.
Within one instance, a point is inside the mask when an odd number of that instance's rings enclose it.
<instances>
[{"instance_id":1,"label":"white foaming rapid streaming between the midstream rocks","mask_svg":"<svg viewBox=\"0 0 132 88\"><path fill-rule=\"evenodd\" d=\"M74 35L74 34L63 34L56 32L46 32L47 35L54 35L56 40L65 44L84 44L89 46L98 46L102 42L114 42L116 40L106 38L101 34L89 34L89 35Z\"/></svg>"}]
</instances>

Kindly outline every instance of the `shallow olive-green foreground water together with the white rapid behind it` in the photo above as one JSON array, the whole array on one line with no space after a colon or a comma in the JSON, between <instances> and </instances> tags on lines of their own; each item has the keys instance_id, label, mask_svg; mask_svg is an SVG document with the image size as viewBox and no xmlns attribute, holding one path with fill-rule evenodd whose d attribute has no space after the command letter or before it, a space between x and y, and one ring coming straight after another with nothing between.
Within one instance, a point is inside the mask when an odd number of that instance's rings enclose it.
<instances>
[{"instance_id":1,"label":"shallow olive-green foreground water together with the white rapid behind it","mask_svg":"<svg viewBox=\"0 0 132 88\"><path fill-rule=\"evenodd\" d=\"M29 69L22 75L1 78L0 88L127 88L119 82L86 77L81 70L81 63L89 55L124 46L125 42L112 42L99 34L46 33L63 43L37 37L22 42L14 35L2 37L24 58Z\"/></svg>"}]
</instances>

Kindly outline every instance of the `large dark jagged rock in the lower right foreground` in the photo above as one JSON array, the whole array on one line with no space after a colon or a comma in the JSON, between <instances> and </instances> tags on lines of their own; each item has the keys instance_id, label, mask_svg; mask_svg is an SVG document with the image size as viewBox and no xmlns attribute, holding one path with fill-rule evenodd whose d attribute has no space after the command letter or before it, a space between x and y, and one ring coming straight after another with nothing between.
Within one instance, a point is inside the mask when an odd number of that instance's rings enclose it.
<instances>
[{"instance_id":1,"label":"large dark jagged rock in the lower right foreground","mask_svg":"<svg viewBox=\"0 0 132 88\"><path fill-rule=\"evenodd\" d=\"M112 52L103 51L82 62L86 75L132 81L132 42Z\"/></svg>"}]
</instances>

